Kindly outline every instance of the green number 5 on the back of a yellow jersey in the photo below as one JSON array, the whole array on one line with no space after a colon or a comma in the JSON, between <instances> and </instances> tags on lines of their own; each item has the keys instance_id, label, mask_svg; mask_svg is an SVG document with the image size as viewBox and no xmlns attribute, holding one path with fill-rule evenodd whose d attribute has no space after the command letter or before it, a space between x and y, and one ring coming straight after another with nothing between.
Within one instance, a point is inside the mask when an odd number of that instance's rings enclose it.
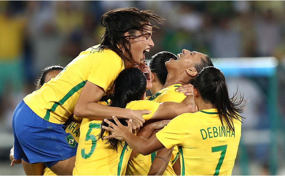
<instances>
[{"instance_id":1,"label":"green number 5 on the back of a yellow jersey","mask_svg":"<svg viewBox=\"0 0 285 176\"><path fill-rule=\"evenodd\" d=\"M91 155L94 153L95 148L96 148L96 144L97 144L97 139L96 139L95 135L90 134L90 133L92 132L93 128L100 129L100 126L101 126L101 124L96 124L96 123L89 124L89 129L88 129L88 132L86 134L85 141L91 140L92 146L91 146L89 153L86 153L85 149L81 149L81 157L83 159L87 159L87 158L91 157Z\"/></svg>"}]
</instances>

